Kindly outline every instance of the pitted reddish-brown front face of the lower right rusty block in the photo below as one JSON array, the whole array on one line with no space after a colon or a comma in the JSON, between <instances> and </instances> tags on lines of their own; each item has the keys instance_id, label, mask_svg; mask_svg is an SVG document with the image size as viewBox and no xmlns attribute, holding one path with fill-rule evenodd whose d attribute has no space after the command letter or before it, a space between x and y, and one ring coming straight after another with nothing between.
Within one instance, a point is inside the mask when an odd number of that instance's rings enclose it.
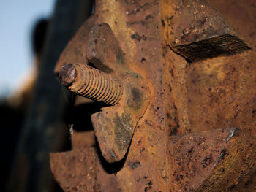
<instances>
[{"instance_id":1,"label":"pitted reddish-brown front face of the lower right rusty block","mask_svg":"<svg viewBox=\"0 0 256 192\"><path fill-rule=\"evenodd\" d=\"M227 146L228 130L197 132L170 137L168 163L171 191L195 191L222 158Z\"/></svg>"}]
</instances>

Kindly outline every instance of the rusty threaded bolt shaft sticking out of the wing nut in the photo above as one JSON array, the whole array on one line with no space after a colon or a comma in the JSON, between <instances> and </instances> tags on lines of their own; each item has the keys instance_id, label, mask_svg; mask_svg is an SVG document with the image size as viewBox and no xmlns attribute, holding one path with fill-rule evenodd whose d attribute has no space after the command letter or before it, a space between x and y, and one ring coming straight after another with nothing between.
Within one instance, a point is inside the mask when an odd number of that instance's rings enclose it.
<instances>
[{"instance_id":1,"label":"rusty threaded bolt shaft sticking out of the wing nut","mask_svg":"<svg viewBox=\"0 0 256 192\"><path fill-rule=\"evenodd\" d=\"M109 105L116 104L123 93L121 84L110 74L85 64L64 64L59 79L69 91Z\"/></svg>"}]
</instances>

